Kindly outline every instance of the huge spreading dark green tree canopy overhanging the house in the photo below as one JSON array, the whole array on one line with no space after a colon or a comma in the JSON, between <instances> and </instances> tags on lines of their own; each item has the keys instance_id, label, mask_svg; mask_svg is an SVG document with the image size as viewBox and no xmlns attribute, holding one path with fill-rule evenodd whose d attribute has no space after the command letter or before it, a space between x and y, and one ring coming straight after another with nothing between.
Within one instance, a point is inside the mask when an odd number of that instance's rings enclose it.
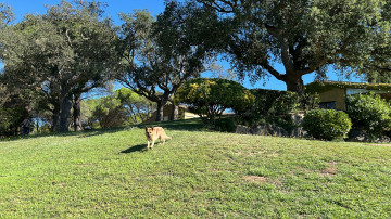
<instances>
[{"instance_id":1,"label":"huge spreading dark green tree canopy overhanging the house","mask_svg":"<svg viewBox=\"0 0 391 219\"><path fill-rule=\"evenodd\" d=\"M302 93L303 75L325 78L329 67L369 74L366 66L390 44L388 0L198 2L219 14L226 35L218 48L242 77L274 76L288 91Z\"/></svg>"}]
</instances>

